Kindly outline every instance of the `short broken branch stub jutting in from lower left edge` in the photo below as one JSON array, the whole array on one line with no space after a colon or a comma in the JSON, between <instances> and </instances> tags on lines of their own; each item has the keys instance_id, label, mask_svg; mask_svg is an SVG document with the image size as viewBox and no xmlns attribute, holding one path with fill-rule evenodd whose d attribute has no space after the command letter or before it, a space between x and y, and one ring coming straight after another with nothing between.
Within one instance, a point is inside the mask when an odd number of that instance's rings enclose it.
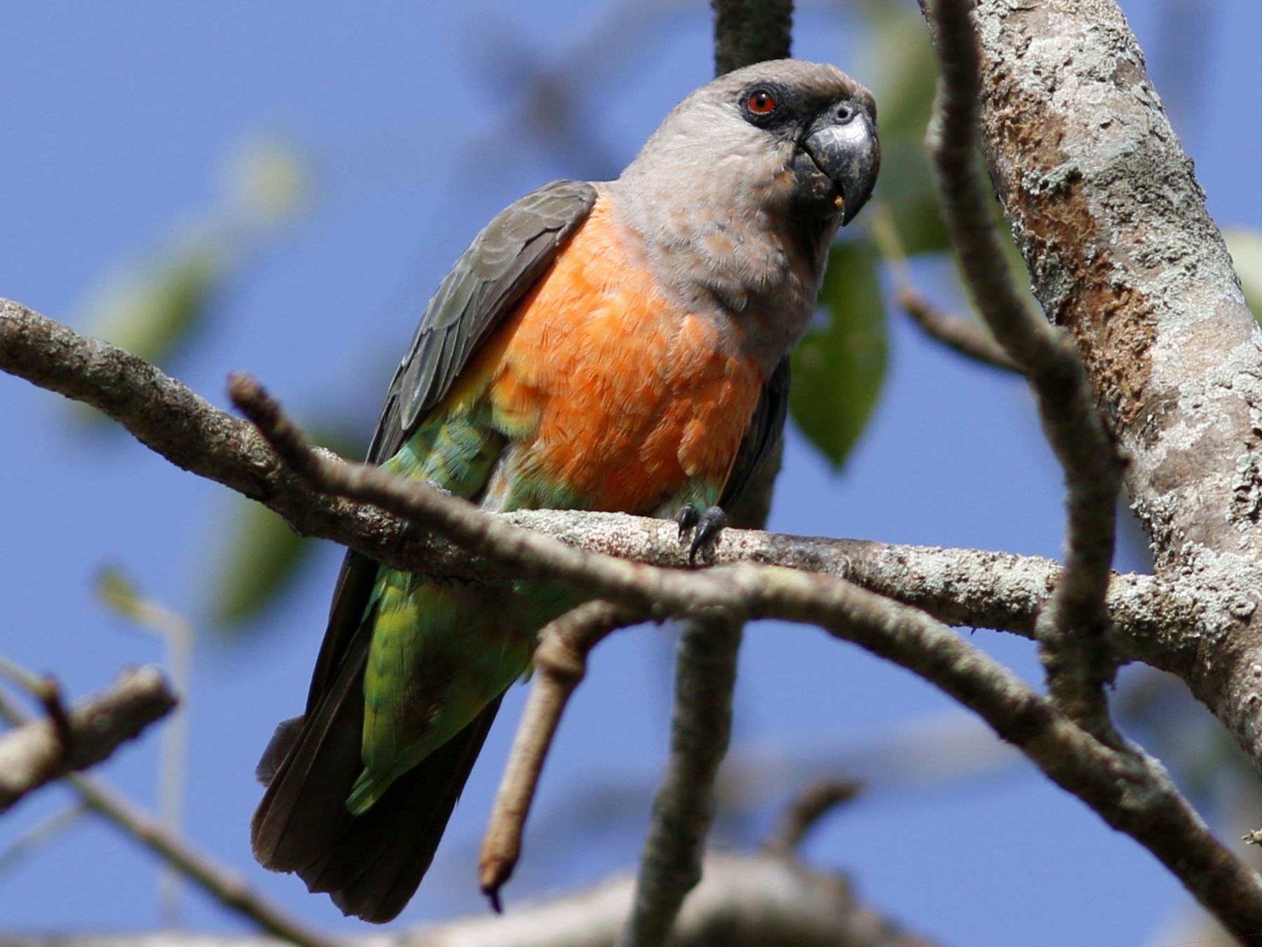
<instances>
[{"instance_id":1,"label":"short broken branch stub jutting in from lower left edge","mask_svg":"<svg viewBox=\"0 0 1262 947\"><path fill-rule=\"evenodd\" d=\"M0 736L0 812L67 773L107 759L177 703L156 668L125 670L61 724L37 720Z\"/></svg>"}]
</instances>

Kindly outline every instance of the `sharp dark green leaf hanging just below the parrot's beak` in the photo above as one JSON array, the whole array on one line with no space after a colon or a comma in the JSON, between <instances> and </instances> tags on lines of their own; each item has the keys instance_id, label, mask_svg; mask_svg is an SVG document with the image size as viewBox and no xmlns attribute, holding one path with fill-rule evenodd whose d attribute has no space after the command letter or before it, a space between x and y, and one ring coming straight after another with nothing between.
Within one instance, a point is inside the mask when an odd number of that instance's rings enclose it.
<instances>
[{"instance_id":1,"label":"sharp dark green leaf hanging just below the parrot's beak","mask_svg":"<svg viewBox=\"0 0 1262 947\"><path fill-rule=\"evenodd\" d=\"M835 470L876 407L888 360L880 256L867 241L838 244L820 292L825 325L793 357L789 410Z\"/></svg>"}]
</instances>

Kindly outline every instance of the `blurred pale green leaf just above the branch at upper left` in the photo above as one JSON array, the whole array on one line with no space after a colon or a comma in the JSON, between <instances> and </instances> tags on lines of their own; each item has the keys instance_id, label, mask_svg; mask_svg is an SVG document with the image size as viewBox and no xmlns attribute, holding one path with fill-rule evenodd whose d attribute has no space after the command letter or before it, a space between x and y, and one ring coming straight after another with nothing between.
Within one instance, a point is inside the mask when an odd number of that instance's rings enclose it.
<instances>
[{"instance_id":1,"label":"blurred pale green leaf just above the branch at upper left","mask_svg":"<svg viewBox=\"0 0 1262 947\"><path fill-rule=\"evenodd\" d=\"M223 244L208 234L124 271L87 303L87 332L164 364L206 317L227 275Z\"/></svg>"}]
</instances>

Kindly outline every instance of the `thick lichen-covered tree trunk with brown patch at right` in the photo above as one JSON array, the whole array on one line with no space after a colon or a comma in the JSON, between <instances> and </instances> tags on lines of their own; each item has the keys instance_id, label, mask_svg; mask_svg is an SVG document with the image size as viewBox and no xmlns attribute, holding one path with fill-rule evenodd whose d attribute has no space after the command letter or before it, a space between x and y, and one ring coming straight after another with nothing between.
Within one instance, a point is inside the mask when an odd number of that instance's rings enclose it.
<instances>
[{"instance_id":1,"label":"thick lichen-covered tree trunk with brown patch at right","mask_svg":"<svg viewBox=\"0 0 1262 947\"><path fill-rule=\"evenodd\" d=\"M1184 677L1262 768L1262 335L1113 0L979 0L981 130L1035 294L1129 458L1159 573L1235 600Z\"/></svg>"}]
</instances>

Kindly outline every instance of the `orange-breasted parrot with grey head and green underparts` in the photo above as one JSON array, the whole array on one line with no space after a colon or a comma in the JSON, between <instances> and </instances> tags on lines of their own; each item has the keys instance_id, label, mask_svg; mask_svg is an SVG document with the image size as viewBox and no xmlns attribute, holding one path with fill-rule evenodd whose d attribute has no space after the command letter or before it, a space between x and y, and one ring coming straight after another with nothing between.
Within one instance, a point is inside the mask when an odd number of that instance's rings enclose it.
<instances>
[{"instance_id":1,"label":"orange-breasted parrot with grey head and green underparts","mask_svg":"<svg viewBox=\"0 0 1262 947\"><path fill-rule=\"evenodd\" d=\"M702 86L616 181L545 184L477 235L420 318L369 462L488 511L674 519L692 559L781 436L789 355L878 168L875 100L833 66ZM350 551L305 712L259 763L257 861L347 915L395 918L536 633L581 601Z\"/></svg>"}]
</instances>

